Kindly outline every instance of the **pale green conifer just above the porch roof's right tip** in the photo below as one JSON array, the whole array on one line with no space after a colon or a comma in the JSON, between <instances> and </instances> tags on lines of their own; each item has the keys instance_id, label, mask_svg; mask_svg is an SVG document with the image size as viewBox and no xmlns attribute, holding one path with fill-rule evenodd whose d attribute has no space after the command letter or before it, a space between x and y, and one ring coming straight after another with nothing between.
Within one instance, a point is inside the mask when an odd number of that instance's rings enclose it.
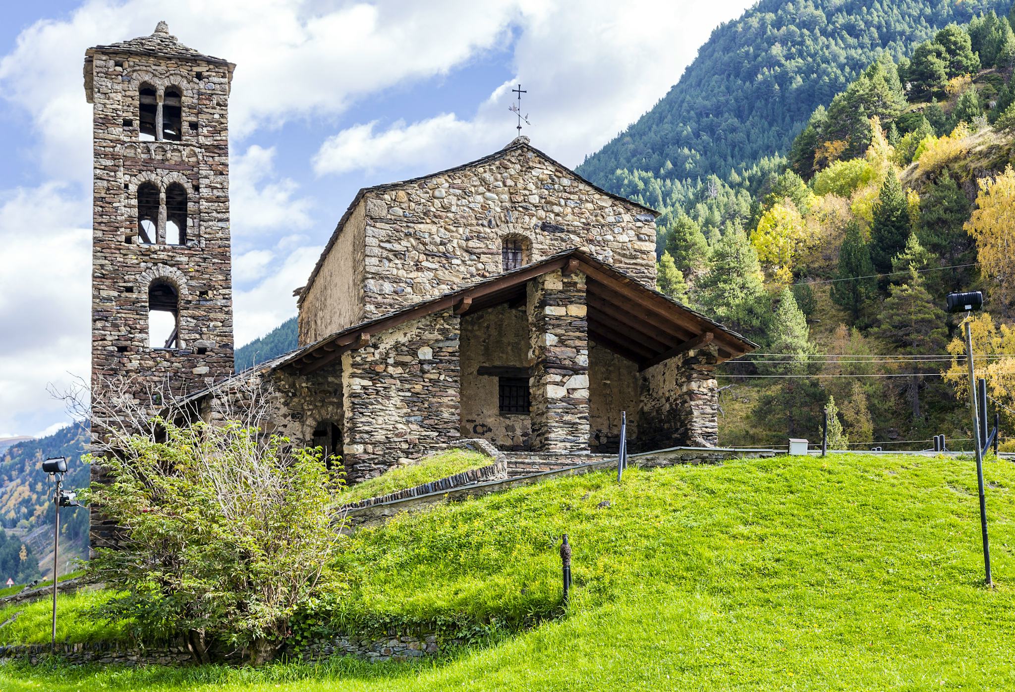
<instances>
[{"instance_id":1,"label":"pale green conifer just above the porch roof's right tip","mask_svg":"<svg viewBox=\"0 0 1015 692\"><path fill-rule=\"evenodd\" d=\"M743 229L728 228L713 249L710 268L695 284L702 306L719 322L745 331L760 326L761 265Z\"/></svg>"}]
</instances>

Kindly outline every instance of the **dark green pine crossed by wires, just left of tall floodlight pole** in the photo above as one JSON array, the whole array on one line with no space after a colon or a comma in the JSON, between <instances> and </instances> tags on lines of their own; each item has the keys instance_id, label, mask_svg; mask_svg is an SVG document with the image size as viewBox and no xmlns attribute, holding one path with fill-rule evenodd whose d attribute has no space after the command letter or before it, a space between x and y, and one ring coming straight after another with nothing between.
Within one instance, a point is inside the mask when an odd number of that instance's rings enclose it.
<instances>
[{"instance_id":1,"label":"dark green pine crossed by wires, just left of tall floodlight pole","mask_svg":"<svg viewBox=\"0 0 1015 692\"><path fill-rule=\"evenodd\" d=\"M893 283L888 298L881 305L875 334L901 355L941 353L948 343L945 314L935 302L916 271L910 271L904 283ZM906 386L912 405L912 418L921 418L920 389L924 372L933 371L928 365L911 362L906 369L913 372Z\"/></svg>"}]
</instances>

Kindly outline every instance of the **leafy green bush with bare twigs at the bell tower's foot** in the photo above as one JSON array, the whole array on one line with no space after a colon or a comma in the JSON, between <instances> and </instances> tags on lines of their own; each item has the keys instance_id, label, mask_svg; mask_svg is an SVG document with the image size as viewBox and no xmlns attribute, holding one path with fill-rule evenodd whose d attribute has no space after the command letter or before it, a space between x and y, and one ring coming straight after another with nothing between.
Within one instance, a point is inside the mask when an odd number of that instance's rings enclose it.
<instances>
[{"instance_id":1,"label":"leafy green bush with bare twigs at the bell tower's foot","mask_svg":"<svg viewBox=\"0 0 1015 692\"><path fill-rule=\"evenodd\" d=\"M87 499L123 528L87 565L121 592L95 612L138 636L185 634L205 660L219 644L263 663L337 552L335 482L319 453L254 427L154 423L164 438L131 435L92 460L111 482Z\"/></svg>"}]
</instances>

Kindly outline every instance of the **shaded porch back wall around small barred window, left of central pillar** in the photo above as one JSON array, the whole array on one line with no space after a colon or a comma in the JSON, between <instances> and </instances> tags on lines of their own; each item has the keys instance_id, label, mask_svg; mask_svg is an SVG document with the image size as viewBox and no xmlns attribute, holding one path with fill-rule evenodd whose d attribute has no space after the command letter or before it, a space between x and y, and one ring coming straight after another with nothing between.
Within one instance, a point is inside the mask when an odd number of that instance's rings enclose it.
<instances>
[{"instance_id":1,"label":"shaded porch back wall around small barred window, left of central pillar","mask_svg":"<svg viewBox=\"0 0 1015 692\"><path fill-rule=\"evenodd\" d=\"M495 374L484 366L525 368L529 360L529 322L525 307L496 305L462 318L462 428L501 449L526 449L532 422L527 413L500 413Z\"/></svg>"}]
</instances>

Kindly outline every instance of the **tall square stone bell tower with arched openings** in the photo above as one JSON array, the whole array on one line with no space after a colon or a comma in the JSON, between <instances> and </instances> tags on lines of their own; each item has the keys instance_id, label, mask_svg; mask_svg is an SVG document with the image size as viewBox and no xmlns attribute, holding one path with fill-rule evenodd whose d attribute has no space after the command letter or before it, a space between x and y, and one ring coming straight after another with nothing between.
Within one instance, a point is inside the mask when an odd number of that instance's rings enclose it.
<instances>
[{"instance_id":1,"label":"tall square stone bell tower with arched openings","mask_svg":"<svg viewBox=\"0 0 1015 692\"><path fill-rule=\"evenodd\" d=\"M232 373L233 67L187 48L162 21L151 36L85 52L93 402L123 377L153 411L154 391L187 394ZM93 430L96 415L93 405ZM94 516L92 528L94 543Z\"/></svg>"}]
</instances>

